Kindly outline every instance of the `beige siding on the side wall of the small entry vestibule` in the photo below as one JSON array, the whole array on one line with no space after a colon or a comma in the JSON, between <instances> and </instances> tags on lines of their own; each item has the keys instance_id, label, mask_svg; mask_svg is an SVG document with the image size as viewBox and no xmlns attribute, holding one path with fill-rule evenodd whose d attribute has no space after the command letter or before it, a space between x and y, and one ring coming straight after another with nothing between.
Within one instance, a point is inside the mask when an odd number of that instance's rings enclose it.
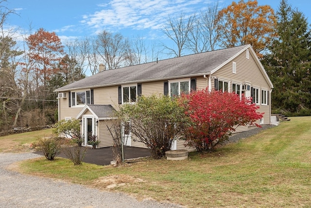
<instances>
[{"instance_id":1,"label":"beige siding on the side wall of the small entry vestibule","mask_svg":"<svg viewBox=\"0 0 311 208\"><path fill-rule=\"evenodd\" d=\"M100 120L97 128L97 137L101 141L99 147L111 147L113 146L113 138L107 128L112 126L111 120Z\"/></svg>"}]
</instances>

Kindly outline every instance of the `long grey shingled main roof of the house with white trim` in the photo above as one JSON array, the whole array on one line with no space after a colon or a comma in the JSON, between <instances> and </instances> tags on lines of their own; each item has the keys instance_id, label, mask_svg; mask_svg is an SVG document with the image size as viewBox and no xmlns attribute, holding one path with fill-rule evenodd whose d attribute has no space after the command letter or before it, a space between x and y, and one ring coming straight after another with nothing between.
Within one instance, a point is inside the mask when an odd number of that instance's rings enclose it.
<instances>
[{"instance_id":1,"label":"long grey shingled main roof of the house with white trim","mask_svg":"<svg viewBox=\"0 0 311 208\"><path fill-rule=\"evenodd\" d=\"M247 48L251 48L251 46L242 45L113 70L106 70L58 88L55 92L209 75L217 71L234 57L241 54ZM251 51L255 53L253 50ZM261 68L264 71L262 66ZM268 82L272 86L268 76L266 79L269 80Z\"/></svg>"}]
</instances>

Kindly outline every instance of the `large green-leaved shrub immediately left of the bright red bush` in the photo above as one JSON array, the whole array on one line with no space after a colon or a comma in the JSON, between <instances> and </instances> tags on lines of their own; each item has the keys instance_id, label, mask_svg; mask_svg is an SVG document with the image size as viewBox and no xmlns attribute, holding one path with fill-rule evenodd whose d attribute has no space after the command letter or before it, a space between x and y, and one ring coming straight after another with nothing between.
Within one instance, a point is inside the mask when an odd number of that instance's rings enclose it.
<instances>
[{"instance_id":1,"label":"large green-leaved shrub immediately left of the bright red bush","mask_svg":"<svg viewBox=\"0 0 311 208\"><path fill-rule=\"evenodd\" d=\"M118 113L130 121L130 131L149 148L155 159L171 149L183 130L183 109L169 96L142 96L136 105L121 106Z\"/></svg>"}]
</instances>

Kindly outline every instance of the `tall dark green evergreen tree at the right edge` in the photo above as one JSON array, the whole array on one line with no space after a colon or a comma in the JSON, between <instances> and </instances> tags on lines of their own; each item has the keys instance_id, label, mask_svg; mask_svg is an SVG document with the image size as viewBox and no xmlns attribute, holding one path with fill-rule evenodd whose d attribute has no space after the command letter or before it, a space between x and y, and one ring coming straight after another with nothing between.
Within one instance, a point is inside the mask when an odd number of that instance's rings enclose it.
<instances>
[{"instance_id":1,"label":"tall dark green evergreen tree at the right edge","mask_svg":"<svg viewBox=\"0 0 311 208\"><path fill-rule=\"evenodd\" d=\"M311 115L311 31L305 16L281 0L278 38L262 61L274 84L273 113Z\"/></svg>"}]
</instances>

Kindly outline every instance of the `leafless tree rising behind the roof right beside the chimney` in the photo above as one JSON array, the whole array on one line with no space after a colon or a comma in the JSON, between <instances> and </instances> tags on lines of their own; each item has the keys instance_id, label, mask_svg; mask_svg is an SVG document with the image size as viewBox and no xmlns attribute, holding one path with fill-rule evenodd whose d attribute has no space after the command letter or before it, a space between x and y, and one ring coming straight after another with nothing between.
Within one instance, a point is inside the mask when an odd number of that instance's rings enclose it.
<instances>
[{"instance_id":1,"label":"leafless tree rising behind the roof right beside the chimney","mask_svg":"<svg viewBox=\"0 0 311 208\"><path fill-rule=\"evenodd\" d=\"M133 63L129 40L120 33L112 34L103 31L99 34L97 52L103 58L105 68L108 70L129 66Z\"/></svg>"}]
</instances>

